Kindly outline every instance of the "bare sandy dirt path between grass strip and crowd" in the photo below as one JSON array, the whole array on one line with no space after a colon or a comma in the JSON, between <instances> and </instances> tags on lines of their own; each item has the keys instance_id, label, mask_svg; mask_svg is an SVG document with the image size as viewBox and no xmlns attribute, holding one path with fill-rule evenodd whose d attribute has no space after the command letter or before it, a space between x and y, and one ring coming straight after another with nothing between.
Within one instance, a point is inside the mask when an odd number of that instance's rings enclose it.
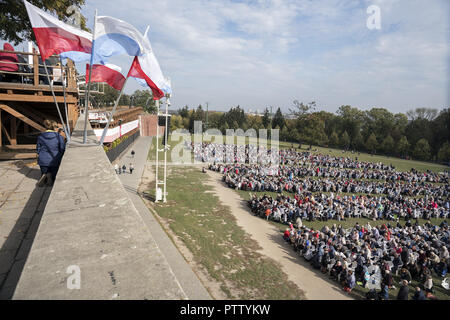
<instances>
[{"instance_id":1,"label":"bare sandy dirt path between grass strip and crowd","mask_svg":"<svg viewBox=\"0 0 450 320\"><path fill-rule=\"evenodd\" d=\"M258 242L264 254L279 262L289 280L302 289L306 297L312 300L345 300L352 299L336 282L327 276L312 269L310 264L301 259L292 248L284 242L279 230L259 217L250 214L246 203L232 189L221 181L221 175L213 171L207 171L209 180L205 181L213 188L214 193L223 204L231 208L231 213L236 217L237 223L254 240Z\"/></svg>"}]
</instances>

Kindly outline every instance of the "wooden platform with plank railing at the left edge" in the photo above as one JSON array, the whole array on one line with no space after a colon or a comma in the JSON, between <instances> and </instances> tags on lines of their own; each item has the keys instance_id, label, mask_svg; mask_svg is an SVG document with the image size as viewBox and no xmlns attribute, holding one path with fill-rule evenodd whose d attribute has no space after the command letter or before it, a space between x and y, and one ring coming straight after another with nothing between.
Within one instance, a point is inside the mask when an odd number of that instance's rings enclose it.
<instances>
[{"instance_id":1,"label":"wooden platform with plank railing at the left edge","mask_svg":"<svg viewBox=\"0 0 450 320\"><path fill-rule=\"evenodd\" d=\"M72 61L69 60L67 66L63 67L65 88L61 82L61 67L50 66L47 63L50 80L55 81L53 88L57 108L51 87L45 84L48 81L47 76L39 73L43 65L39 63L38 54L14 53L18 56L33 56L33 65L29 66L32 73L0 71L3 75L9 76L7 82L0 82L0 160L35 158L36 154L30 150L30 146L33 146L31 149L34 150L37 137L45 131L44 120L54 120L59 127L62 127L62 123L68 122L72 130L79 117L79 93L75 65ZM19 67L24 65L18 64ZM64 101L67 105L67 115Z\"/></svg>"}]
</instances>

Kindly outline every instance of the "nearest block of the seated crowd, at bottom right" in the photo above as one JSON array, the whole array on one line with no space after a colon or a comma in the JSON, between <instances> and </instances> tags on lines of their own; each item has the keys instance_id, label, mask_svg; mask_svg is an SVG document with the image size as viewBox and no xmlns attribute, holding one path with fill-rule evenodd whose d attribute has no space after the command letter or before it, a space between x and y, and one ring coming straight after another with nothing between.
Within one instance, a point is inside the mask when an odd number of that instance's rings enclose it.
<instances>
[{"instance_id":1,"label":"nearest block of the seated crowd, at bottom right","mask_svg":"<svg viewBox=\"0 0 450 320\"><path fill-rule=\"evenodd\" d=\"M398 299L408 299L409 289L402 288L412 280L421 284L417 292L424 290L425 297L435 298L433 276L443 279L450 263L446 221L439 226L430 222L372 226L368 222L350 229L333 224L321 230L290 224L283 237L299 256L329 274L345 291L351 292L356 285L369 288L368 299L388 299L389 290L395 288L394 275L402 284Z\"/></svg>"}]
</instances>

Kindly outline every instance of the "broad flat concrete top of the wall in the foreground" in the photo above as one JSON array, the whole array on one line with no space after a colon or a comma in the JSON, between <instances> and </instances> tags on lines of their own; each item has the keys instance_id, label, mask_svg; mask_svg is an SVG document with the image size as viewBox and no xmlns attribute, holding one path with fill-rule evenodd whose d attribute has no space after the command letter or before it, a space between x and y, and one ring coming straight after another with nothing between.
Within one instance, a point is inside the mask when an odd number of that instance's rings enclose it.
<instances>
[{"instance_id":1,"label":"broad flat concrete top of the wall in the foreground","mask_svg":"<svg viewBox=\"0 0 450 320\"><path fill-rule=\"evenodd\" d=\"M13 299L187 299L166 258L80 117Z\"/></svg>"}]
</instances>

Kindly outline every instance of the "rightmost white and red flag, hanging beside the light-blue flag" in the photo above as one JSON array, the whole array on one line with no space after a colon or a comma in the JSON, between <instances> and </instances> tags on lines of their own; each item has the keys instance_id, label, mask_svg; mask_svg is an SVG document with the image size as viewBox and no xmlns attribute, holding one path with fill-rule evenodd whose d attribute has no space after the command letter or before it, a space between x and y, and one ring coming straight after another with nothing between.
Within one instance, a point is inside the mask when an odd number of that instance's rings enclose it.
<instances>
[{"instance_id":1,"label":"rightmost white and red flag, hanging beside the light-blue flag","mask_svg":"<svg viewBox=\"0 0 450 320\"><path fill-rule=\"evenodd\" d=\"M141 85L148 85L153 92L153 99L159 100L164 97L165 93L172 93L171 84L161 71L150 41L147 37L142 37L142 41L144 54L134 58L128 76L137 78ZM143 81L139 81L139 79Z\"/></svg>"}]
</instances>

